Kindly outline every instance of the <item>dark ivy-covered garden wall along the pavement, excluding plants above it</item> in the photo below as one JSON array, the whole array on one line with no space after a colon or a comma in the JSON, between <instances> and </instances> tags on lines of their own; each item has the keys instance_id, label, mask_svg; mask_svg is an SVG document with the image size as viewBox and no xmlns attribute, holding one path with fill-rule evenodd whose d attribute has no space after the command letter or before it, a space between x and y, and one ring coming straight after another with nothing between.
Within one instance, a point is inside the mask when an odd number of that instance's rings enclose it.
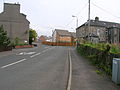
<instances>
[{"instance_id":1,"label":"dark ivy-covered garden wall along the pavement, excluding plants above it","mask_svg":"<svg viewBox=\"0 0 120 90\"><path fill-rule=\"evenodd\" d=\"M108 75L112 74L113 58L120 58L119 54L109 53L106 50L98 50L82 44L77 47L77 51L82 56L87 57L99 69L104 70Z\"/></svg>"}]
</instances>

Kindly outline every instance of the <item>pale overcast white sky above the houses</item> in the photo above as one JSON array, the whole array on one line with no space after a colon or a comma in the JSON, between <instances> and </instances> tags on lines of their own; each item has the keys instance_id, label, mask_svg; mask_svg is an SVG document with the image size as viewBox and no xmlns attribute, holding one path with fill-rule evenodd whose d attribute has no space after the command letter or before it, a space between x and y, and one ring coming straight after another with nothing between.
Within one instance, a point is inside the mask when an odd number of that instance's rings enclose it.
<instances>
[{"instance_id":1,"label":"pale overcast white sky above the houses","mask_svg":"<svg viewBox=\"0 0 120 90\"><path fill-rule=\"evenodd\" d=\"M27 15L30 28L38 35L51 36L55 29L75 32L77 16L78 26L88 20L88 0L0 0L0 12L3 2L21 5L21 13ZM120 0L91 0L90 19L120 23Z\"/></svg>"}]
</instances>

